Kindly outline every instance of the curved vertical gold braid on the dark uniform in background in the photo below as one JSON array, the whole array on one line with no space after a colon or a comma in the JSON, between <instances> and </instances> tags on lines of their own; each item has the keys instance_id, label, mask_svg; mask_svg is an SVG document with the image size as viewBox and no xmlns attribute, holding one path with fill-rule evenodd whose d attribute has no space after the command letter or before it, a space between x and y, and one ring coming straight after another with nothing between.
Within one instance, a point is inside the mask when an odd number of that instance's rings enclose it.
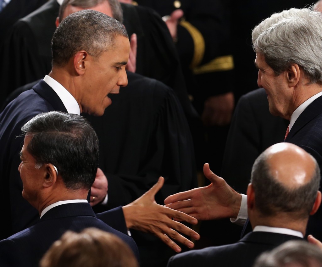
<instances>
[{"instance_id":1,"label":"curved vertical gold braid on the dark uniform in background","mask_svg":"<svg viewBox=\"0 0 322 267\"><path fill-rule=\"evenodd\" d=\"M202 59L204 58L204 49L205 49L204 37L199 32L199 30L189 22L181 21L180 25L190 33L192 40L194 41L194 56L190 64L190 68L193 69L196 66L198 66L202 61Z\"/></svg>"}]
</instances>

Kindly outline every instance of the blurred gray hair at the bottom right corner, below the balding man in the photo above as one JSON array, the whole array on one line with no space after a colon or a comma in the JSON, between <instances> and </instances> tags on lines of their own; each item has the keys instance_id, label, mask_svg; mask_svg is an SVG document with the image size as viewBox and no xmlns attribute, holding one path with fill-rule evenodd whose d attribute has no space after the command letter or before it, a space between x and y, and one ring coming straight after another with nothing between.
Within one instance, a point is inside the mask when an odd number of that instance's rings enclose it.
<instances>
[{"instance_id":1,"label":"blurred gray hair at the bottom right corner, below the balding man","mask_svg":"<svg viewBox=\"0 0 322 267\"><path fill-rule=\"evenodd\" d=\"M294 265L292 265L292 263ZM270 252L262 253L253 267L322 266L322 251L303 240L285 242Z\"/></svg>"}]
</instances>

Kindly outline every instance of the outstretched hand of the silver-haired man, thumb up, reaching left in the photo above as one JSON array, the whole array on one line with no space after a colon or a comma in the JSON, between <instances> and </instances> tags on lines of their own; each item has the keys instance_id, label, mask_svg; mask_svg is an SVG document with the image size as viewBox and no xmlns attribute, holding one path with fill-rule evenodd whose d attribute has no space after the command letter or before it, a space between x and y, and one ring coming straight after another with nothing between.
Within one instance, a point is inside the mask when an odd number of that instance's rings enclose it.
<instances>
[{"instance_id":1,"label":"outstretched hand of the silver-haired man, thumb up, reaching left","mask_svg":"<svg viewBox=\"0 0 322 267\"><path fill-rule=\"evenodd\" d=\"M165 199L166 206L198 220L236 218L242 196L215 175L208 163L204 164L204 175L211 181L210 185L170 195Z\"/></svg>"}]
</instances>

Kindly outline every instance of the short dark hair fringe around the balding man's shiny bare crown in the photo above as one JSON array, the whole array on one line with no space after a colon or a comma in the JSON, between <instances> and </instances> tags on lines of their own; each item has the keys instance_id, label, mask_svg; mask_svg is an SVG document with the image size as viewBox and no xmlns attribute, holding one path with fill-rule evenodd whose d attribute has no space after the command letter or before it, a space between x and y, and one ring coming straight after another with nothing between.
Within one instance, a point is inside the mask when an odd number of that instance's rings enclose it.
<instances>
[{"instance_id":1,"label":"short dark hair fringe around the balding man's shiny bare crown","mask_svg":"<svg viewBox=\"0 0 322 267\"><path fill-rule=\"evenodd\" d=\"M297 188L288 188L272 175L268 155L266 151L262 152L251 170L251 184L255 192L257 210L263 216L286 212L297 219L308 218L320 185L320 168L317 161L310 156L315 169L308 183Z\"/></svg>"}]
</instances>

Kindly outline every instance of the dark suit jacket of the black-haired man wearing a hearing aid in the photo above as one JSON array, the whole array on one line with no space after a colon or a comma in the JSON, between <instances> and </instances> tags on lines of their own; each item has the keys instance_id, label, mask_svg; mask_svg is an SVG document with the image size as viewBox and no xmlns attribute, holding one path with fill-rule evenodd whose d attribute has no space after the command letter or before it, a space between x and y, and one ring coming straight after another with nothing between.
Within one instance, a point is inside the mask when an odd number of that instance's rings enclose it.
<instances>
[{"instance_id":1,"label":"dark suit jacket of the black-haired man wearing a hearing aid","mask_svg":"<svg viewBox=\"0 0 322 267\"><path fill-rule=\"evenodd\" d=\"M99 220L89 203L72 203L52 208L37 224L0 241L0 266L38 267L43 254L64 232L81 232L88 227L117 235L139 260L137 246L131 237Z\"/></svg>"}]
</instances>

